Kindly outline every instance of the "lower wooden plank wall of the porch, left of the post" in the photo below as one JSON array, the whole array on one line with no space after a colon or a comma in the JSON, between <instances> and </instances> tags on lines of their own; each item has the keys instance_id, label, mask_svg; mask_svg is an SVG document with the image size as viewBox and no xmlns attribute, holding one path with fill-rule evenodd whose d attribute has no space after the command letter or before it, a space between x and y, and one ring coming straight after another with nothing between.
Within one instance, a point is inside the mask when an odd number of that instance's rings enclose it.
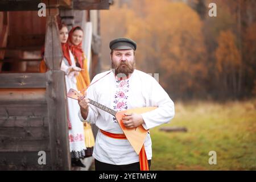
<instances>
[{"instance_id":1,"label":"lower wooden plank wall of the porch, left of the post","mask_svg":"<svg viewBox=\"0 0 256 182\"><path fill-rule=\"evenodd\" d=\"M1 74L0 80L0 170L51 169L45 75ZM39 151L46 152L45 165Z\"/></svg>"}]
</instances>

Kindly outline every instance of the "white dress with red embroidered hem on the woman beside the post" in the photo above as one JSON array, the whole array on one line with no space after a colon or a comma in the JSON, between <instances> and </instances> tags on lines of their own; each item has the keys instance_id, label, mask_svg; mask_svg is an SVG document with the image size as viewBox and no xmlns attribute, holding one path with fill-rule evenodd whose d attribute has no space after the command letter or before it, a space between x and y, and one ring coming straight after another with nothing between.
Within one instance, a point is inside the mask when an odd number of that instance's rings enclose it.
<instances>
[{"instance_id":1,"label":"white dress with red embroidered hem on the woman beside the post","mask_svg":"<svg viewBox=\"0 0 256 182\"><path fill-rule=\"evenodd\" d=\"M65 72L65 84L67 92L69 89L77 90L76 86L76 77L74 75L75 72L68 72L68 68L75 67L75 59L69 51L69 55L71 57L72 65L69 66L67 59L63 59L61 62L60 69ZM69 149L71 152L71 158L84 158L85 157L85 138L84 138L84 126L80 121L79 116L76 114L79 110L79 104L76 100L72 98L67 98L68 100L68 118L71 123L71 129L68 130L68 137L69 137Z\"/></svg>"}]
</instances>

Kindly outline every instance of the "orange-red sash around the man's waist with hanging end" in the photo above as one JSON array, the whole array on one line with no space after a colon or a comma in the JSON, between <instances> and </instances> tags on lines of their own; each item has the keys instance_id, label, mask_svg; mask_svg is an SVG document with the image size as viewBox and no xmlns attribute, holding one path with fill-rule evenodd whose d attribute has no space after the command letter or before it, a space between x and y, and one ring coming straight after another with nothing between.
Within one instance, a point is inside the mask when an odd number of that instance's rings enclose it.
<instances>
[{"instance_id":1,"label":"orange-red sash around the man's waist with hanging end","mask_svg":"<svg viewBox=\"0 0 256 182\"><path fill-rule=\"evenodd\" d=\"M101 130L101 133L110 137L110 138L127 139L125 134L109 133L108 131L104 131L104 130ZM144 144L141 148L141 151L139 152L139 166L141 168L141 171L149 171L148 162L147 162L147 155L146 155Z\"/></svg>"}]
</instances>

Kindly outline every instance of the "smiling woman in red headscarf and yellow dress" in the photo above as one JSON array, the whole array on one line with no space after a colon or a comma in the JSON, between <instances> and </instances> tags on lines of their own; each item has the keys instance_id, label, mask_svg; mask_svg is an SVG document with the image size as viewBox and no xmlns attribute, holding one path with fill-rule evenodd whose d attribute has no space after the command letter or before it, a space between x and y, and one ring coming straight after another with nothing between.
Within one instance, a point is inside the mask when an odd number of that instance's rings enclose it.
<instances>
[{"instance_id":1,"label":"smiling woman in red headscarf and yellow dress","mask_svg":"<svg viewBox=\"0 0 256 182\"><path fill-rule=\"evenodd\" d=\"M90 77L87 68L87 60L84 52L82 51L82 38L84 32L81 27L73 27L69 31L68 35L68 46L71 50L73 56L75 57L77 67L81 68L79 75L76 77L77 80L77 89L84 93L87 86L90 84ZM84 122L84 133L85 133L85 145L86 145L86 157L92 156L93 146L95 144L94 136L92 133L92 127L90 123Z\"/></svg>"}]
</instances>

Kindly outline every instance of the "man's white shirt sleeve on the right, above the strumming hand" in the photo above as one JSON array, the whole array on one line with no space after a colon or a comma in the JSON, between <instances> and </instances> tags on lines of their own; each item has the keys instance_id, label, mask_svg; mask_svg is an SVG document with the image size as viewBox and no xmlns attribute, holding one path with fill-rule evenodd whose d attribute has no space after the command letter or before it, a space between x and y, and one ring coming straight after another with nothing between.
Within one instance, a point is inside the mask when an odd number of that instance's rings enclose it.
<instances>
[{"instance_id":1,"label":"man's white shirt sleeve on the right, above the strumming hand","mask_svg":"<svg viewBox=\"0 0 256 182\"><path fill-rule=\"evenodd\" d=\"M151 85L148 88L149 93L147 94L147 97L149 97L149 100L147 106L158 106L158 108L142 114L144 120L142 126L146 130L170 122L175 115L174 102L168 96L166 91L155 78L152 77L152 80L150 81Z\"/></svg>"}]
</instances>

